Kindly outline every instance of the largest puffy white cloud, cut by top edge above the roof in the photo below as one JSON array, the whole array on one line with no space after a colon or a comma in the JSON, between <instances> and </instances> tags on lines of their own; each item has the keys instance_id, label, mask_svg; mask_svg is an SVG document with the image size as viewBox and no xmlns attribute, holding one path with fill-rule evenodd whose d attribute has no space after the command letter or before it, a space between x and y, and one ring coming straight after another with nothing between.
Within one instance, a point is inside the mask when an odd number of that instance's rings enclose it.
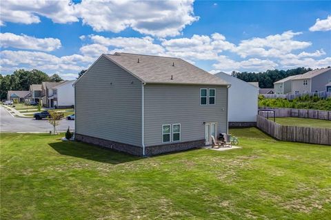
<instances>
[{"instance_id":1,"label":"largest puffy white cloud, cut by top edge above the roof","mask_svg":"<svg viewBox=\"0 0 331 220\"><path fill-rule=\"evenodd\" d=\"M176 36L197 21L193 1L82 1L77 10L94 31L120 32L132 28L157 37Z\"/></svg>"}]
</instances>

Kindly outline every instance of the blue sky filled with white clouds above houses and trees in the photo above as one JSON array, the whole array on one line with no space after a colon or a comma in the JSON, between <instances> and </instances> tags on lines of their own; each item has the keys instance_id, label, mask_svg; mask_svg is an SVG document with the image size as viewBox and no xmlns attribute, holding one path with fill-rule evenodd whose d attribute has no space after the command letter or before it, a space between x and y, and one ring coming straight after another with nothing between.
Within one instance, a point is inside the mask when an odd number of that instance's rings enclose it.
<instances>
[{"instance_id":1,"label":"blue sky filled with white clouds above houses and trees","mask_svg":"<svg viewBox=\"0 0 331 220\"><path fill-rule=\"evenodd\" d=\"M331 65L331 1L1 1L1 74L74 79L102 53L181 57L215 73Z\"/></svg>"}]
</instances>

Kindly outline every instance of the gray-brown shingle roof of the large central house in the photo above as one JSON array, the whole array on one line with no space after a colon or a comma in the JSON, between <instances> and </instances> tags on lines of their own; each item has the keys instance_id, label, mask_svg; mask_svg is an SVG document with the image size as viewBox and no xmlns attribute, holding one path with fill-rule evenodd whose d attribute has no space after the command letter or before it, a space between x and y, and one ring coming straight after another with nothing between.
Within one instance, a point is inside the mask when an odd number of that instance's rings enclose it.
<instances>
[{"instance_id":1,"label":"gray-brown shingle roof of the large central house","mask_svg":"<svg viewBox=\"0 0 331 220\"><path fill-rule=\"evenodd\" d=\"M230 85L223 79L179 58L123 52L105 55L145 83Z\"/></svg>"}]
</instances>

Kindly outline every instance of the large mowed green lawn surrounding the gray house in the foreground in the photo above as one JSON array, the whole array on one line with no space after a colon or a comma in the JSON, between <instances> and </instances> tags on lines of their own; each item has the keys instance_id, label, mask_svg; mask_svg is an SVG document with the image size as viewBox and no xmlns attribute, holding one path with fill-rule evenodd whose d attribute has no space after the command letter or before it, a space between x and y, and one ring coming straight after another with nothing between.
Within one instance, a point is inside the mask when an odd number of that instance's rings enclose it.
<instances>
[{"instance_id":1,"label":"large mowed green lawn surrounding the gray house in the foreground","mask_svg":"<svg viewBox=\"0 0 331 220\"><path fill-rule=\"evenodd\" d=\"M1 219L330 219L331 148L234 129L241 149L141 158L1 135Z\"/></svg>"}]
</instances>

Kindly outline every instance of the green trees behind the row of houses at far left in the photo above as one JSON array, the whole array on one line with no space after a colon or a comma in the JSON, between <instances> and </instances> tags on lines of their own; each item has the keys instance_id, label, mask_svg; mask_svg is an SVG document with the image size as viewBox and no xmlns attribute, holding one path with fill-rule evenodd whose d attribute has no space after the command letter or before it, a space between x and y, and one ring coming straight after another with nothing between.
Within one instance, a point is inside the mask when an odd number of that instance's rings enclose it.
<instances>
[{"instance_id":1,"label":"green trees behind the row of houses at far left","mask_svg":"<svg viewBox=\"0 0 331 220\"><path fill-rule=\"evenodd\" d=\"M8 90L30 90L30 85L41 84L44 81L63 81L58 74L49 76L41 70L15 70L12 74L0 74L1 100L7 99Z\"/></svg>"}]
</instances>

